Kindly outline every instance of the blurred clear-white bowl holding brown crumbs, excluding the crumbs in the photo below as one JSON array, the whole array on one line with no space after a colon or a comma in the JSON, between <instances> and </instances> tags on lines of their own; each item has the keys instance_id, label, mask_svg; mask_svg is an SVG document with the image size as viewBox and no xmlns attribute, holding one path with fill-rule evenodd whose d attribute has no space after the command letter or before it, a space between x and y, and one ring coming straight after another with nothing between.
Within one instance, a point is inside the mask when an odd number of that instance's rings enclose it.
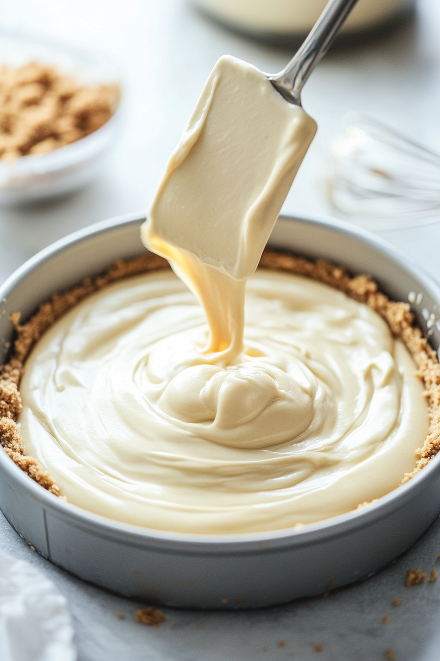
<instances>
[{"instance_id":1,"label":"blurred clear-white bowl holding brown crumbs, excluding the crumbs","mask_svg":"<svg viewBox=\"0 0 440 661\"><path fill-rule=\"evenodd\" d=\"M29 61L55 65L85 84L117 83L121 77L110 59L76 48L0 32L0 66ZM121 123L121 104L104 126L71 145L46 154L0 161L0 206L51 198L84 186L105 162Z\"/></svg>"}]
</instances>

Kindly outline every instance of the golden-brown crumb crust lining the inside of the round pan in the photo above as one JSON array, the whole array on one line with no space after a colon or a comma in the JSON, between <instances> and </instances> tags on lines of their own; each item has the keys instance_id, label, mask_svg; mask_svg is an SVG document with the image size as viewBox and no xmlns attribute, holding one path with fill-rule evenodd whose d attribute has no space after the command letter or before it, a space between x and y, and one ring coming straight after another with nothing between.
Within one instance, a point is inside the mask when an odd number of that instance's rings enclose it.
<instances>
[{"instance_id":1,"label":"golden-brown crumb crust lining the inside of the round pan","mask_svg":"<svg viewBox=\"0 0 440 661\"><path fill-rule=\"evenodd\" d=\"M411 473L404 474L401 484L410 480L439 451L440 364L437 354L422 331L414 325L414 315L410 312L408 303L391 301L387 295L379 291L377 283L370 276L361 275L352 278L342 266L335 266L324 260L312 262L290 253L266 250L259 266L319 280L346 293L356 301L365 303L385 319L393 335L406 345L416 364L416 375L424 384L424 397L429 413L428 436L424 446L416 449L418 457L416 468ZM48 301L40 305L38 311L24 325L20 325L20 313L13 313L10 317L17 336L13 355L0 373L0 443L24 473L55 496L61 496L59 486L37 459L26 455L16 422L22 409L19 387L26 358L42 334L59 317L88 295L102 290L117 280L162 268L170 268L168 262L152 253L145 253L127 261L118 260L104 275L86 278L82 284L73 289L54 293Z\"/></svg>"}]
</instances>

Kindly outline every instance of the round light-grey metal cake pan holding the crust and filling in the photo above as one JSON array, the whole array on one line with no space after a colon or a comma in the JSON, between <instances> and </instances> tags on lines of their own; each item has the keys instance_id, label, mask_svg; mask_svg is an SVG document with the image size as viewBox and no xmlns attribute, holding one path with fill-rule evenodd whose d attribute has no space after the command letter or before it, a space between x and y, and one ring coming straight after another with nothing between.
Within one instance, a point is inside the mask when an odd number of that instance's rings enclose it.
<instances>
[{"instance_id":1,"label":"round light-grey metal cake pan holding the crust and filling","mask_svg":"<svg viewBox=\"0 0 440 661\"><path fill-rule=\"evenodd\" d=\"M0 290L0 363L13 340L9 314L26 319L53 292L144 250L141 214L92 225L21 266ZM371 274L383 292L410 299L420 327L440 309L440 287L405 256L336 221L280 217L270 245ZM434 327L435 328L435 327ZM431 334L437 350L440 332ZM243 608L288 602L377 572L408 549L440 512L440 456L368 507L301 529L189 535L145 529L59 500L0 451L0 507L16 531L51 562L144 602Z\"/></svg>"}]
</instances>

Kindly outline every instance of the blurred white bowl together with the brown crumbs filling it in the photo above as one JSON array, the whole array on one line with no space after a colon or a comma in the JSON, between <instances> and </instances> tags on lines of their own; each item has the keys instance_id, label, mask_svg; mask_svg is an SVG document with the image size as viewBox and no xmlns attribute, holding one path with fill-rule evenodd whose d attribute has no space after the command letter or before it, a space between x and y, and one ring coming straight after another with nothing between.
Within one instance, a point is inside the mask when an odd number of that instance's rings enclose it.
<instances>
[{"instance_id":1,"label":"blurred white bowl together with the brown crumbs filling it","mask_svg":"<svg viewBox=\"0 0 440 661\"><path fill-rule=\"evenodd\" d=\"M103 56L2 35L0 205L71 192L98 173L120 123L119 79Z\"/></svg>"}]
</instances>

